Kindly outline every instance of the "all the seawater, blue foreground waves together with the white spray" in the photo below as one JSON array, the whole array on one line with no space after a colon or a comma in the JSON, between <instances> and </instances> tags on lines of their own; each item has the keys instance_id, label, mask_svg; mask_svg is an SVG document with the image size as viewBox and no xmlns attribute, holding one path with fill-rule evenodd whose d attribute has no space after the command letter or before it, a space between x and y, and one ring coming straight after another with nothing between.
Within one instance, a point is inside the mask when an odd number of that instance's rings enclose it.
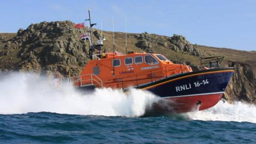
<instances>
[{"instance_id":1,"label":"all the seawater, blue foreground waves together with the white spray","mask_svg":"<svg viewBox=\"0 0 256 144\"><path fill-rule=\"evenodd\" d=\"M0 78L0 143L256 143L256 106L220 101L185 114L144 117L146 91L56 89L45 78Z\"/></svg>"}]
</instances>

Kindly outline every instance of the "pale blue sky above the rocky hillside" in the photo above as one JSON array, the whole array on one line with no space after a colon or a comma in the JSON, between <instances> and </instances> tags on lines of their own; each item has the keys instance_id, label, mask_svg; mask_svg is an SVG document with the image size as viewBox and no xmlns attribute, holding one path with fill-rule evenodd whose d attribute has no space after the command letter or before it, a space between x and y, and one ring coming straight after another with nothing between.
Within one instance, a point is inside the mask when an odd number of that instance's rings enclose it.
<instances>
[{"instance_id":1,"label":"pale blue sky above the rocky hillside","mask_svg":"<svg viewBox=\"0 0 256 144\"><path fill-rule=\"evenodd\" d=\"M127 33L185 36L193 44L256 51L256 1L1 1L0 33L16 33L31 23L84 22L91 9L95 28Z\"/></svg>"}]
</instances>

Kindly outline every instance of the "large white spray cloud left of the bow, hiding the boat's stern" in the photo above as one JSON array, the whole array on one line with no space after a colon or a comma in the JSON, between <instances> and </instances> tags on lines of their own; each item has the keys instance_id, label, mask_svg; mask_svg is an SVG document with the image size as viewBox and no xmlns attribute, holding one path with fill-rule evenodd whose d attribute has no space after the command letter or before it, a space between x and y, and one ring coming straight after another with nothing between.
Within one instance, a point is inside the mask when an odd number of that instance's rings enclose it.
<instances>
[{"instance_id":1,"label":"large white spray cloud left of the bow, hiding the boat's stern","mask_svg":"<svg viewBox=\"0 0 256 144\"><path fill-rule=\"evenodd\" d=\"M97 89L79 93L71 85L60 90L33 74L12 74L0 81L0 114L49 111L60 114L136 117L158 98L146 91Z\"/></svg>"}]
</instances>

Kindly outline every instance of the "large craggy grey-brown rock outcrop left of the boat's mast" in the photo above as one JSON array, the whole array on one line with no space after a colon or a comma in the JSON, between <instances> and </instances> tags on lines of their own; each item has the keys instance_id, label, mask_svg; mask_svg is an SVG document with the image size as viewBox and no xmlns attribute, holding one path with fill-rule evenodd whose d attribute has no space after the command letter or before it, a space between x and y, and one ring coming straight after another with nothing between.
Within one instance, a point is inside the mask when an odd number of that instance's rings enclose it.
<instances>
[{"instance_id":1,"label":"large craggy grey-brown rock outcrop left of the boat's mast","mask_svg":"<svg viewBox=\"0 0 256 144\"><path fill-rule=\"evenodd\" d=\"M80 40L84 29L77 29L71 21L41 22L19 29L17 36L8 41L4 49L17 51L21 61L15 65L19 71L77 75L89 60L86 42ZM1 51L8 55L8 51Z\"/></svg>"}]
</instances>

